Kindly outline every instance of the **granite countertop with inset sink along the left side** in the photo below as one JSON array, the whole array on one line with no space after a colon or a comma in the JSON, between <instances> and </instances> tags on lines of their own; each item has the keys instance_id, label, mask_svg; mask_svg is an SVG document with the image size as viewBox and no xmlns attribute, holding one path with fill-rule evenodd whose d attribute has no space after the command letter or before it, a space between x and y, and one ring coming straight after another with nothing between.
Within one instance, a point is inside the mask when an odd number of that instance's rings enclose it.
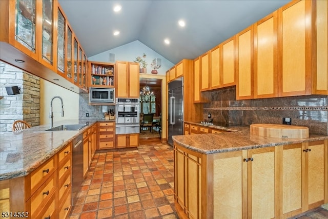
<instances>
[{"instance_id":1,"label":"granite countertop with inset sink along the left side","mask_svg":"<svg viewBox=\"0 0 328 219\"><path fill-rule=\"evenodd\" d=\"M0 181L28 175L98 121L105 120L65 120L53 124L53 127L88 124L78 131L44 131L49 129L49 125L41 125L1 133Z\"/></svg>"}]
</instances>

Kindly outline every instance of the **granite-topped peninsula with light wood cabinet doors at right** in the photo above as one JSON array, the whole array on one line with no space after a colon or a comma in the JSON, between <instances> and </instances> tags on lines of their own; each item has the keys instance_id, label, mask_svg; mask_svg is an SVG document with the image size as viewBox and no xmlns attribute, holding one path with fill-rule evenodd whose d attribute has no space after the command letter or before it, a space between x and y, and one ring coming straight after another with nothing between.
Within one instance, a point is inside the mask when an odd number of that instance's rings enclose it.
<instances>
[{"instance_id":1,"label":"granite-topped peninsula with light wood cabinet doors at right","mask_svg":"<svg viewBox=\"0 0 328 219\"><path fill-rule=\"evenodd\" d=\"M328 203L328 136L222 130L173 136L180 218L288 218Z\"/></svg>"}]
</instances>

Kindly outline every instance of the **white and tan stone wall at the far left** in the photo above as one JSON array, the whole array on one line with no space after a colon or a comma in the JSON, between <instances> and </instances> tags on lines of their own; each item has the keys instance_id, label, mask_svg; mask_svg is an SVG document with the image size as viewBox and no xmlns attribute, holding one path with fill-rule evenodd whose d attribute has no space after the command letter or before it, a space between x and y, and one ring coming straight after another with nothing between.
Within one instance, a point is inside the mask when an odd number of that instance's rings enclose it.
<instances>
[{"instance_id":1,"label":"white and tan stone wall at the far left","mask_svg":"<svg viewBox=\"0 0 328 219\"><path fill-rule=\"evenodd\" d=\"M20 94L8 95L5 87L18 86ZM12 131L16 120L31 126L40 124L40 79L0 62L0 132Z\"/></svg>"}]
</instances>

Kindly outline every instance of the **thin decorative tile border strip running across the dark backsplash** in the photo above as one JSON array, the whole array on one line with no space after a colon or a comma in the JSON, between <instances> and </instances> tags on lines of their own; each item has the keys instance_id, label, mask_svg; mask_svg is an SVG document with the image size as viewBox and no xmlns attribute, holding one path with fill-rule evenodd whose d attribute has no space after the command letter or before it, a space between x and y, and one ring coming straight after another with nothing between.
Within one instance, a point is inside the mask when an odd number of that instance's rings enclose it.
<instances>
[{"instance_id":1,"label":"thin decorative tile border strip running across the dark backsplash","mask_svg":"<svg viewBox=\"0 0 328 219\"><path fill-rule=\"evenodd\" d=\"M328 111L326 107L211 107L204 110L297 110L297 111Z\"/></svg>"}]
</instances>

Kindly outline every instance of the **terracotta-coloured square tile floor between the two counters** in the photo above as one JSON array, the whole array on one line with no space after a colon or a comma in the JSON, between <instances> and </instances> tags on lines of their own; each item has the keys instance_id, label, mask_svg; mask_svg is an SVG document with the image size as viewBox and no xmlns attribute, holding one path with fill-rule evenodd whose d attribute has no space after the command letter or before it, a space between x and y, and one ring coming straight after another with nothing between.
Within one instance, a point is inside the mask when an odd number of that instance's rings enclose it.
<instances>
[{"instance_id":1,"label":"terracotta-coloured square tile floor between the two counters","mask_svg":"<svg viewBox=\"0 0 328 219\"><path fill-rule=\"evenodd\" d=\"M173 168L172 147L159 141L96 153L69 219L178 218Z\"/></svg>"}]
</instances>

